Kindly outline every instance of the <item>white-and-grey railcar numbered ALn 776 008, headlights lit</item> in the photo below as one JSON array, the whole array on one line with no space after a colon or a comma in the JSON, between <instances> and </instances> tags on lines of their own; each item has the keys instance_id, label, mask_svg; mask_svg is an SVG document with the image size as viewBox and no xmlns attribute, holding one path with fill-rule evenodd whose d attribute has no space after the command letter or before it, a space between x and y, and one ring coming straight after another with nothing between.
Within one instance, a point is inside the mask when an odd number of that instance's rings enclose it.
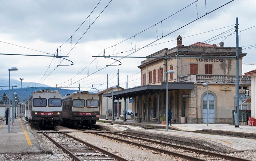
<instances>
[{"instance_id":1,"label":"white-and-grey railcar numbered ALn 776 008, headlights lit","mask_svg":"<svg viewBox=\"0 0 256 161\"><path fill-rule=\"evenodd\" d=\"M37 127L55 128L62 122L62 95L57 91L33 92L25 108L26 120Z\"/></svg>"}]
</instances>

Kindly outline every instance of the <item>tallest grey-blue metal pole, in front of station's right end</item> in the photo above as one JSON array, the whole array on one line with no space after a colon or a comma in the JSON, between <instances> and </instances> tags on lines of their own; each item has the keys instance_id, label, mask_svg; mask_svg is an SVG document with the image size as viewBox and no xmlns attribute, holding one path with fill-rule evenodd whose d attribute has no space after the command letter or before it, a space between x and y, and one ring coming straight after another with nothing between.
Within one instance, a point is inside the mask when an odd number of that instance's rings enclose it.
<instances>
[{"instance_id":1,"label":"tallest grey-blue metal pole, in front of station's right end","mask_svg":"<svg viewBox=\"0 0 256 161\"><path fill-rule=\"evenodd\" d=\"M238 53L238 17L236 17L236 123L235 127L239 128L239 53Z\"/></svg>"}]
</instances>

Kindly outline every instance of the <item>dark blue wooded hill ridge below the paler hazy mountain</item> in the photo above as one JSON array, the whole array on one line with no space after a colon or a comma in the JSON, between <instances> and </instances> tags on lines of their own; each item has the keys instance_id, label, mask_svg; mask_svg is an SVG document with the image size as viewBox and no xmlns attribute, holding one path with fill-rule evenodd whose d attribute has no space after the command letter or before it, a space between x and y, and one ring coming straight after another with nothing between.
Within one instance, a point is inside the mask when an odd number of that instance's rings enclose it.
<instances>
[{"instance_id":1,"label":"dark blue wooded hill ridge below the paler hazy mountain","mask_svg":"<svg viewBox=\"0 0 256 161\"><path fill-rule=\"evenodd\" d=\"M20 99L21 100L24 99L26 101L34 91L45 90L45 89L49 89L49 90L52 90L52 91L59 90L59 93L62 94L62 96L78 91L78 90L68 90L68 89L53 88L53 87L22 88L22 95L24 95L24 96L22 96ZM20 88L13 89L13 93L14 92L16 92L18 96L20 96ZM9 89L0 91L0 100L2 100L2 97L3 97L4 93L6 95L8 95L9 94Z\"/></svg>"}]
</instances>

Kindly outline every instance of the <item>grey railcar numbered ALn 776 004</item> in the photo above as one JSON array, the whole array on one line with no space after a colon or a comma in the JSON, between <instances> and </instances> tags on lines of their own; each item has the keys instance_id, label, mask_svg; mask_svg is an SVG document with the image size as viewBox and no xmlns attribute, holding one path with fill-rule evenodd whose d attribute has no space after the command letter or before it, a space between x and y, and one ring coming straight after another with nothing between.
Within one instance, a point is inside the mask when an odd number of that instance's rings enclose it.
<instances>
[{"instance_id":1,"label":"grey railcar numbered ALn 776 004","mask_svg":"<svg viewBox=\"0 0 256 161\"><path fill-rule=\"evenodd\" d=\"M93 127L99 119L99 96L88 91L78 91L62 98L63 124L72 127Z\"/></svg>"}]
</instances>

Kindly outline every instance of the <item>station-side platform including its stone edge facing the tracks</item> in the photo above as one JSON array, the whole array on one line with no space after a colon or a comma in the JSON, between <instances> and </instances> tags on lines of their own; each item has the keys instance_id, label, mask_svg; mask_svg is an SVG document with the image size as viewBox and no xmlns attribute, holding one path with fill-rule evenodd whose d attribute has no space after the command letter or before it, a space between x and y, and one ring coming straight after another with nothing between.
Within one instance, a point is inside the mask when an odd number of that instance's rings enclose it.
<instances>
[{"instance_id":1,"label":"station-side platform including its stone edge facing the tracks","mask_svg":"<svg viewBox=\"0 0 256 161\"><path fill-rule=\"evenodd\" d=\"M113 129L118 128L121 130L119 126L123 126L128 135L135 135L146 137L150 139L158 138L161 141L168 141L170 143L176 143L187 146L194 146L201 149L206 150L214 150L218 152L239 152L239 151L247 151L247 150L255 150L256 149L256 139L247 139L233 136L222 136L222 135L210 135L199 132L190 132L190 131L198 131L203 129L208 130L222 130L224 132L245 132L250 134L255 134L255 127L242 126L241 128L235 128L233 125L228 124L209 124L207 127L206 124L173 124L172 127L169 126L169 131L165 131L165 125L157 125L155 123L150 122L134 122L132 120L127 120L127 122L123 122L123 120L115 120L114 125L109 124L111 120L104 120L105 123L97 122L98 126L108 126ZM122 125L125 124L125 125ZM137 125L137 126L136 126ZM138 127L139 126L139 127ZM164 127L162 127L164 126ZM138 128L135 129L134 127ZM139 129L140 127L147 127L151 129ZM158 127L158 128L155 128ZM161 128L159 128L161 127ZM155 128L155 129L153 129ZM174 129L174 130L173 130ZM178 130L175 130L178 129ZM246 131L249 132L246 132ZM234 132L233 132L234 131Z\"/></svg>"}]
</instances>

